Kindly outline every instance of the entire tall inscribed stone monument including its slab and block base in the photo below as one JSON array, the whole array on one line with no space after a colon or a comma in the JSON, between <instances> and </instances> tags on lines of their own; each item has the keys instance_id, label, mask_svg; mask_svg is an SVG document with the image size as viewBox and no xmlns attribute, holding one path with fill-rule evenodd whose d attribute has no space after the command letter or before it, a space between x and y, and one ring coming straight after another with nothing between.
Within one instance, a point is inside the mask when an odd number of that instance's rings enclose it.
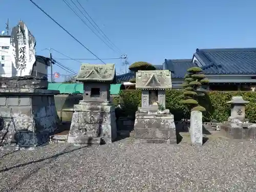
<instances>
[{"instance_id":1,"label":"entire tall inscribed stone monument including its slab and block base","mask_svg":"<svg viewBox=\"0 0 256 192\"><path fill-rule=\"evenodd\" d=\"M54 95L46 77L31 76L35 38L23 22L12 29L10 55L13 77L0 77L0 146L18 150L46 143L57 129ZM16 76L15 76L16 75Z\"/></svg>"}]
</instances>

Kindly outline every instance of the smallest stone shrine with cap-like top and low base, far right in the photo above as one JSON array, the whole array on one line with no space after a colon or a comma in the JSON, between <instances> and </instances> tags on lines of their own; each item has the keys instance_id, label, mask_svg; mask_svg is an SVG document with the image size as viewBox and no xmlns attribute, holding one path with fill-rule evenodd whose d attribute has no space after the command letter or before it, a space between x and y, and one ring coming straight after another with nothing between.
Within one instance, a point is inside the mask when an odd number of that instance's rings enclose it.
<instances>
[{"instance_id":1,"label":"smallest stone shrine with cap-like top and low base, far right","mask_svg":"<svg viewBox=\"0 0 256 192\"><path fill-rule=\"evenodd\" d=\"M256 124L249 123L245 118L245 104L249 101L241 96L234 96L227 103L231 104L231 116L220 125L225 136L233 139L255 139Z\"/></svg>"}]
</instances>

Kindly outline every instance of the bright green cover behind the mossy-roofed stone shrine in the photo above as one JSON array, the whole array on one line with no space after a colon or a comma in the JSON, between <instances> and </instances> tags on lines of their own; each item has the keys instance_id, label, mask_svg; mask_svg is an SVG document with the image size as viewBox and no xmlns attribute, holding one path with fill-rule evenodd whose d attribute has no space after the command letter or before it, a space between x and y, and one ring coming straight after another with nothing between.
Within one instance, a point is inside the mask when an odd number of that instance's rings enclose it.
<instances>
[{"instance_id":1,"label":"bright green cover behind the mossy-roofed stone shrine","mask_svg":"<svg viewBox=\"0 0 256 192\"><path fill-rule=\"evenodd\" d=\"M118 95L121 84L111 84L110 94ZM82 94L83 84L78 83L48 83L48 90L58 90L61 94Z\"/></svg>"}]
</instances>

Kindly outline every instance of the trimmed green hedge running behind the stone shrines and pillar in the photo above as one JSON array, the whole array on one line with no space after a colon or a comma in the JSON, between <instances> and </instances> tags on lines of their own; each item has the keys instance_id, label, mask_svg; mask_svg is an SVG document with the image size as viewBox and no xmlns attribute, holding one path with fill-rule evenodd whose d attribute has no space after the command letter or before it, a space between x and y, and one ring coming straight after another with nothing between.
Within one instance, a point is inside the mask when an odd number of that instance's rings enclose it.
<instances>
[{"instance_id":1,"label":"trimmed green hedge running behind the stone shrines and pillar","mask_svg":"<svg viewBox=\"0 0 256 192\"><path fill-rule=\"evenodd\" d=\"M204 113L204 121L222 122L230 116L230 101L232 96L243 96L244 100L250 101L246 105L246 118L250 122L256 121L256 92L210 92L208 98L204 98L201 102L207 104ZM179 101L182 100L182 90L166 91L166 109L174 115L176 121L183 118L189 119L189 111L185 105ZM122 105L122 110L117 111L117 118L120 116L129 116L135 118L135 112L138 106L141 106L141 92L139 90L124 90L120 92L118 98L114 98L115 103ZM205 106L205 105L204 105Z\"/></svg>"}]
</instances>

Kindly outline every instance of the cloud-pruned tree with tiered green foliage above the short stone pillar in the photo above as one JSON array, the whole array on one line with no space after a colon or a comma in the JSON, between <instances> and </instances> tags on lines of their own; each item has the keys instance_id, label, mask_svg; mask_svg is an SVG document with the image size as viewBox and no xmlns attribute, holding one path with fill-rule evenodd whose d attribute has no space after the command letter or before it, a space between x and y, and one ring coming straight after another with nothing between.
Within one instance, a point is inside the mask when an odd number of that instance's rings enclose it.
<instances>
[{"instance_id":1,"label":"cloud-pruned tree with tiered green foliage above the short stone pillar","mask_svg":"<svg viewBox=\"0 0 256 192\"><path fill-rule=\"evenodd\" d=\"M190 111L206 111L206 109L199 104L200 97L205 96L207 93L199 89L202 88L203 83L209 82L202 71L203 70L199 67L189 68L185 75L184 83L182 84L184 91L181 103L187 105Z\"/></svg>"}]
</instances>

